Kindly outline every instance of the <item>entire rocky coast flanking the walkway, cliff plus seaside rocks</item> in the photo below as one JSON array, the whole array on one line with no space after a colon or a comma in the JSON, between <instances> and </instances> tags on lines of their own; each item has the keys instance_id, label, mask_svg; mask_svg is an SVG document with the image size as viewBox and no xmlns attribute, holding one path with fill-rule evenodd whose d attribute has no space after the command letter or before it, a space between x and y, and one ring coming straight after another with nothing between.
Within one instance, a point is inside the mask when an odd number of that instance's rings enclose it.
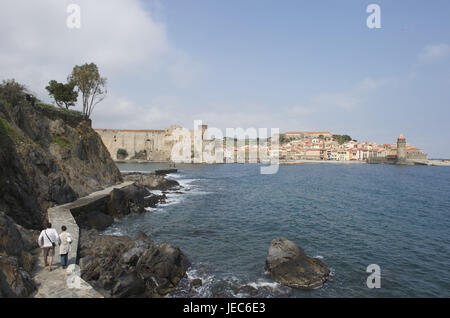
<instances>
[{"instance_id":1,"label":"entire rocky coast flanking the walkway, cliff plus seaside rocks","mask_svg":"<svg viewBox=\"0 0 450 318\"><path fill-rule=\"evenodd\" d=\"M142 233L134 239L99 235L114 219L165 201L164 193L149 190L180 188L164 178L172 171L122 176L81 113L25 98L15 104L0 100L0 298L37 291L31 275L50 207L124 179L134 183L72 211L81 228L82 275L107 297L159 297L175 288L189 266L178 248L154 244Z\"/></svg>"}]
</instances>

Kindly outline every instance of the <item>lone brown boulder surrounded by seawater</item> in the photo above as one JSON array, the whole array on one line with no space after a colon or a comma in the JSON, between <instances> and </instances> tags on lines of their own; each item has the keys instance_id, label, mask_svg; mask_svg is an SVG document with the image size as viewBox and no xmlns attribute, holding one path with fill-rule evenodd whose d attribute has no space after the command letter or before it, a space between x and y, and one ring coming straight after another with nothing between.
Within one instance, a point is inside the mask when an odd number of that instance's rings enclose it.
<instances>
[{"instance_id":1,"label":"lone brown boulder surrounded by seawater","mask_svg":"<svg viewBox=\"0 0 450 318\"><path fill-rule=\"evenodd\" d=\"M308 257L298 245L285 238L270 243L266 269L281 284L303 289L322 286L330 274L324 262Z\"/></svg>"}]
</instances>

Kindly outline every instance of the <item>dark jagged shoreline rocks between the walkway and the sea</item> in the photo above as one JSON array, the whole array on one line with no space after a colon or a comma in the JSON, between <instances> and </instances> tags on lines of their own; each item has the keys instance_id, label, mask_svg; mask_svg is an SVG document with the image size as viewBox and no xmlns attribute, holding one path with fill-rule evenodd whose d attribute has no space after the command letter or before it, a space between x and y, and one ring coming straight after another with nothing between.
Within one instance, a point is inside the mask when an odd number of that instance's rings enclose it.
<instances>
[{"instance_id":1,"label":"dark jagged shoreline rocks between the walkway and the sea","mask_svg":"<svg viewBox=\"0 0 450 318\"><path fill-rule=\"evenodd\" d=\"M129 214L141 214L148 207L165 202L165 194L149 190L176 190L180 184L165 178L171 171L150 174L126 173L130 186L113 190L109 197L72 211L80 226L79 265L81 277L104 297L162 297L176 290L190 266L177 247L155 244L140 232L129 236L101 235L114 222Z\"/></svg>"}]
</instances>

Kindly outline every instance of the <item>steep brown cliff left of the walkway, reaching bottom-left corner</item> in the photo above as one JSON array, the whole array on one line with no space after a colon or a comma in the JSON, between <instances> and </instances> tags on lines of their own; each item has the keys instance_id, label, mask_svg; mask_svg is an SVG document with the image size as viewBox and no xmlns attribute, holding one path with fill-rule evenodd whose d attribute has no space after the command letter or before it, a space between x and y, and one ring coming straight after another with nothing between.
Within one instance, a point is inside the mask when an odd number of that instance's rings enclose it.
<instances>
[{"instance_id":1,"label":"steep brown cliff left of the walkway, reaching bottom-left corner","mask_svg":"<svg viewBox=\"0 0 450 318\"><path fill-rule=\"evenodd\" d=\"M0 297L26 297L47 208L122 181L90 121L39 102L0 100Z\"/></svg>"}]
</instances>

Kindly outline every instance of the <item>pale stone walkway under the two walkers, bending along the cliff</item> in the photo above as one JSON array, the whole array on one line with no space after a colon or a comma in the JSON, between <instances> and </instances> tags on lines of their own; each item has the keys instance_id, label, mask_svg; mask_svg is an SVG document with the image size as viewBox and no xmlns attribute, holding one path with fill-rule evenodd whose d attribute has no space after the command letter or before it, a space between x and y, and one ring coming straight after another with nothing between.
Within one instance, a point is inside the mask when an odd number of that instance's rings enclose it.
<instances>
[{"instance_id":1,"label":"pale stone walkway under the two walkers, bending along the cliff","mask_svg":"<svg viewBox=\"0 0 450 318\"><path fill-rule=\"evenodd\" d=\"M91 193L74 202L51 207L47 210L48 220L53 228L60 232L61 226L67 227L67 232L72 235L72 251L69 253L69 267L63 269L56 248L56 255L53 260L53 271L49 272L44 268L42 252L39 254L39 261L33 270L33 279L38 284L36 298L102 298L103 296L95 291L91 285L79 277L79 268L74 266L78 253L78 240L80 229L70 212L71 209L84 206L88 203L102 199L109 195L113 189L126 187L133 182L124 182L104 190ZM72 266L71 266L72 264Z\"/></svg>"}]
</instances>

